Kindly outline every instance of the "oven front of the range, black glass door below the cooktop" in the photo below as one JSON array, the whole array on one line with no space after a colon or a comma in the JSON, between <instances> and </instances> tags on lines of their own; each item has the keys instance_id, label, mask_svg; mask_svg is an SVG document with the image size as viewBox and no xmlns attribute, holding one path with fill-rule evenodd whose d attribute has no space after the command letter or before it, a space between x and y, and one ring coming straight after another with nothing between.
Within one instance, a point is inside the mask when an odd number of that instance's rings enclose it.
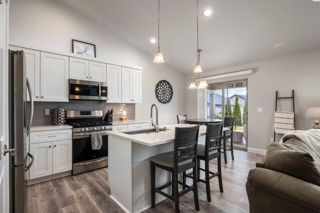
<instances>
[{"instance_id":1,"label":"oven front of the range, black glass door below the cooktop","mask_svg":"<svg viewBox=\"0 0 320 213\"><path fill-rule=\"evenodd\" d=\"M91 132L73 132L72 175L108 166L108 136L106 132L112 130L112 126L108 126L108 128L101 131L102 147L98 150L91 148Z\"/></svg>"}]
</instances>

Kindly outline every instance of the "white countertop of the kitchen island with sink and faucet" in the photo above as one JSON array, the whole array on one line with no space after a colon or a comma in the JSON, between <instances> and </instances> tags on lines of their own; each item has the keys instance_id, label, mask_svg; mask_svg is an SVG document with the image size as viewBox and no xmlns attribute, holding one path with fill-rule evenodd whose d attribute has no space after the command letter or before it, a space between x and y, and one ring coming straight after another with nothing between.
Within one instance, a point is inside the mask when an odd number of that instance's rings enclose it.
<instances>
[{"instance_id":1,"label":"white countertop of the kitchen island with sink and faucet","mask_svg":"<svg viewBox=\"0 0 320 213\"><path fill-rule=\"evenodd\" d=\"M175 127L190 127L194 126L193 124L171 124L160 126L160 128L166 127L166 131L160 131L159 133L144 133L144 134L136 134L136 135L128 135L124 134L124 132L132 132L132 130L123 130L123 131L108 131L108 135L116 136L128 141L132 141L138 144L142 144L145 146L155 146L160 144L165 144L174 141L174 132ZM145 129L153 129L153 127L145 128ZM144 130L144 129L140 129ZM140 131L139 130L139 131ZM223 128L223 130L228 130L228 128ZM200 126L199 136L205 135L206 126Z\"/></svg>"}]
</instances>

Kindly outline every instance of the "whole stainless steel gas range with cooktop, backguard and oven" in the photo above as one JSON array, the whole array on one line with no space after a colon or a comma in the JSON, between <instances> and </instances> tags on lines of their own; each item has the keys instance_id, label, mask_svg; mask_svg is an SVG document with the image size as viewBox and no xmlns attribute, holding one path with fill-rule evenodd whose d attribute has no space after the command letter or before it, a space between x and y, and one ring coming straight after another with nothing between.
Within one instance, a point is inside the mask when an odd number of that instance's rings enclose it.
<instances>
[{"instance_id":1,"label":"whole stainless steel gas range with cooktop, backguard and oven","mask_svg":"<svg viewBox=\"0 0 320 213\"><path fill-rule=\"evenodd\" d=\"M112 123L102 121L102 110L68 110L66 123L72 129L72 175L108 166L108 137ZM102 133L102 146L91 148L91 133Z\"/></svg>"}]
</instances>

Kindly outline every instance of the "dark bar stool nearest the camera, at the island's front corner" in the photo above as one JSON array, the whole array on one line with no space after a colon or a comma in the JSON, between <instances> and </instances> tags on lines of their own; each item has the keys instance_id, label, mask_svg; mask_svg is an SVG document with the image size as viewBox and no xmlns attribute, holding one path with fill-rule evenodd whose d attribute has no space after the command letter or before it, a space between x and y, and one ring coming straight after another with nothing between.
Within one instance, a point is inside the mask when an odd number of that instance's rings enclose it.
<instances>
[{"instance_id":1,"label":"dark bar stool nearest the camera, at the island's front corner","mask_svg":"<svg viewBox=\"0 0 320 213\"><path fill-rule=\"evenodd\" d=\"M191 127L175 127L173 152L162 153L152 156L151 161L151 207L155 206L155 193L174 201L175 212L179 213L179 197L193 191L195 210L199 211L198 189L196 181L196 147L199 134L199 125ZM155 167L172 173L171 182L155 188ZM187 186L178 181L178 174L193 169L193 185ZM182 185L184 190L179 192L178 185ZM172 195L168 195L161 190L172 186ZM187 188L187 189L185 189Z\"/></svg>"}]
</instances>

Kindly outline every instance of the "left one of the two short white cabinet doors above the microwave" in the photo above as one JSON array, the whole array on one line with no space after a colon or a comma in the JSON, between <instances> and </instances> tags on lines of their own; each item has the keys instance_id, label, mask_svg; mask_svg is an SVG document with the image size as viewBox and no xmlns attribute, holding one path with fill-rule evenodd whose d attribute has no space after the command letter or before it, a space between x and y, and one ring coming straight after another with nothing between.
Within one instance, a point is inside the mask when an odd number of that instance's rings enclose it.
<instances>
[{"instance_id":1,"label":"left one of the two short white cabinet doors above the microwave","mask_svg":"<svg viewBox=\"0 0 320 213\"><path fill-rule=\"evenodd\" d=\"M70 57L69 77L77 80L89 80L89 61Z\"/></svg>"}]
</instances>

